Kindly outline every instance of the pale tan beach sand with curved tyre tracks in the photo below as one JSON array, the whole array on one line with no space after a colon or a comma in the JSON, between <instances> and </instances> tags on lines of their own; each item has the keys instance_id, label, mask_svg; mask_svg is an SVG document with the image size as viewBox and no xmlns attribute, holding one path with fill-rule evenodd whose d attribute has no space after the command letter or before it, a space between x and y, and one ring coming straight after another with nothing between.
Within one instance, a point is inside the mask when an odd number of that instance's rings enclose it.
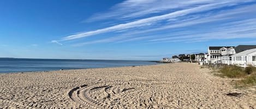
<instances>
[{"instance_id":1,"label":"pale tan beach sand with curved tyre tracks","mask_svg":"<svg viewBox=\"0 0 256 109\"><path fill-rule=\"evenodd\" d=\"M0 108L256 108L232 81L195 63L0 74Z\"/></svg>"}]
</instances>

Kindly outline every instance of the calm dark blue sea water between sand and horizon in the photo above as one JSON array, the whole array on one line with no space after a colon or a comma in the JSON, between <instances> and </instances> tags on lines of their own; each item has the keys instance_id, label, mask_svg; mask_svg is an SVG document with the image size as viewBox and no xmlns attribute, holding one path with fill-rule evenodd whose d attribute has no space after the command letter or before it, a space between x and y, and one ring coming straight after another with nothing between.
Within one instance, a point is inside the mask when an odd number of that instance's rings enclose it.
<instances>
[{"instance_id":1,"label":"calm dark blue sea water between sand and horizon","mask_svg":"<svg viewBox=\"0 0 256 109\"><path fill-rule=\"evenodd\" d=\"M123 67L155 64L157 63L152 61L128 60L0 59L0 73Z\"/></svg>"}]
</instances>

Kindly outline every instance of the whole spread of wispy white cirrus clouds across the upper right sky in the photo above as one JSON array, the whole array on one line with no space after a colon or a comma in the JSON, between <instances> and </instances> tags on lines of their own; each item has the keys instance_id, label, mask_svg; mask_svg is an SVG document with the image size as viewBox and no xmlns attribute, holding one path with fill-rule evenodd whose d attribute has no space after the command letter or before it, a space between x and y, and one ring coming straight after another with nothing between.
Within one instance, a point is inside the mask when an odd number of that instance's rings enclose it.
<instances>
[{"instance_id":1,"label":"whole spread of wispy white cirrus clouds across the upper right sky","mask_svg":"<svg viewBox=\"0 0 256 109\"><path fill-rule=\"evenodd\" d=\"M247 32L254 33L254 28L245 29L246 26L253 27L253 21L241 20L242 15L252 14L254 13L253 9L256 7L253 5L245 5L244 7L233 7L235 5L240 5L247 2L255 2L253 0L248 1L211 1L211 0L201 0L201 1L162 1L163 7L152 7L159 1L133 1L128 0L124 1L120 4L115 5L110 12L106 12L105 14L94 15L88 20L92 20L93 18L101 20L100 18L117 18L117 16L121 16L118 18L136 18L139 20L131 21L127 23L121 23L117 25L112 25L110 27L84 31L80 33L76 33L74 35L62 37L59 40L53 40L52 43L57 43L62 45L62 41L69 40L77 40L82 39L84 37L104 34L104 33L115 33L114 37L103 37L103 39L97 39L92 41L87 41L84 43L76 43L73 46L83 46L85 44L93 44L93 43L124 43L130 41L139 41L139 40L147 40L146 42L159 43L159 42L197 42L197 41L208 41L210 39L215 39L212 35L219 35L224 37L225 35L233 35L232 38L242 38L242 35ZM159 2L162 4L162 2ZM130 4L130 5L128 5ZM172 5L168 5L172 4ZM135 8L136 7L136 8ZM140 7L140 8L139 8ZM152 7L152 8L147 8ZM231 7L231 8L230 8ZM218 10L222 8L227 8L224 10ZM134 10L129 10L134 9ZM124 11L126 10L126 11ZM168 13L167 10L171 10ZM167 12L167 13L166 13ZM154 13L158 13L158 15L154 15ZM162 14L162 15L159 15ZM150 16L148 16L150 15ZM101 17L99 17L101 16ZM145 18L142 18L144 16ZM256 16L253 16L253 18ZM245 19L245 18L243 18ZM225 21L224 23L221 23ZM237 22L234 22L237 21ZM215 22L215 26L213 28L218 29L209 29L206 30L205 33L202 31L192 31L189 33L190 35L181 34L175 35L178 32L172 31L171 29L180 29L184 27L189 27L192 25L204 24ZM241 23L240 23L241 22ZM251 24L243 24L242 22ZM219 23L219 24L218 24ZM225 24L225 25L224 25ZM254 23L255 24L255 23ZM217 25L217 26L216 26ZM228 28L228 29L227 29ZM229 29L234 29L234 31L230 31L227 33L225 31L229 31ZM221 30L222 29L222 30ZM161 32L166 32L169 30L170 35L162 35ZM243 30L243 31L239 31ZM217 33L215 33L217 31ZM158 32L158 35L145 35L148 33ZM231 33L234 32L234 33ZM240 32L240 33L237 33ZM127 33L132 33L130 35L125 35ZM240 34L240 35L239 35ZM235 36L234 36L235 35ZM112 35L111 35L112 36ZM204 36L208 36L205 38ZM210 38L209 38L210 37ZM211 38L212 37L212 38ZM222 38L221 37L221 38ZM251 36L248 36L251 37ZM191 38L192 40L188 40Z\"/></svg>"}]
</instances>

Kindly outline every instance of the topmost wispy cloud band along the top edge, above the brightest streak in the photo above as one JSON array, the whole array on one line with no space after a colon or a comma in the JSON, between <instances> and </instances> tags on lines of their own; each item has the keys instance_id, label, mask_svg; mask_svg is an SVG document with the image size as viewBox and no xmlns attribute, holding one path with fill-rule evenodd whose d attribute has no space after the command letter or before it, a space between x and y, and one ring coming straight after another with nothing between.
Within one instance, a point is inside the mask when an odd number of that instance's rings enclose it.
<instances>
[{"instance_id":1,"label":"topmost wispy cloud band along the top edge, above the brightest streak","mask_svg":"<svg viewBox=\"0 0 256 109\"><path fill-rule=\"evenodd\" d=\"M114 5L109 12L95 14L85 22L111 19L129 19L138 18L150 14L159 14L162 12L171 12L180 9L189 9L197 5L215 4L223 2L221 0L197 0L197 1L170 1L170 0L127 0ZM250 1L229 1L230 5ZM157 6L156 6L157 5Z\"/></svg>"}]
</instances>

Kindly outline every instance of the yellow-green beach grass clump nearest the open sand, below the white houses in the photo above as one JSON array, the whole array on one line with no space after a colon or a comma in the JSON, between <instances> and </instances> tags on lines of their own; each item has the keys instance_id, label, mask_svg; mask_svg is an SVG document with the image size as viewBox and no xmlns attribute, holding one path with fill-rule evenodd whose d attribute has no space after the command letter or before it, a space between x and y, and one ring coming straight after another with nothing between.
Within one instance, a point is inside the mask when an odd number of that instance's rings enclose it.
<instances>
[{"instance_id":1,"label":"yellow-green beach grass clump nearest the open sand, below the white houses","mask_svg":"<svg viewBox=\"0 0 256 109\"><path fill-rule=\"evenodd\" d=\"M223 66L219 72L228 78L242 78L246 75L243 68L239 66Z\"/></svg>"}]
</instances>

